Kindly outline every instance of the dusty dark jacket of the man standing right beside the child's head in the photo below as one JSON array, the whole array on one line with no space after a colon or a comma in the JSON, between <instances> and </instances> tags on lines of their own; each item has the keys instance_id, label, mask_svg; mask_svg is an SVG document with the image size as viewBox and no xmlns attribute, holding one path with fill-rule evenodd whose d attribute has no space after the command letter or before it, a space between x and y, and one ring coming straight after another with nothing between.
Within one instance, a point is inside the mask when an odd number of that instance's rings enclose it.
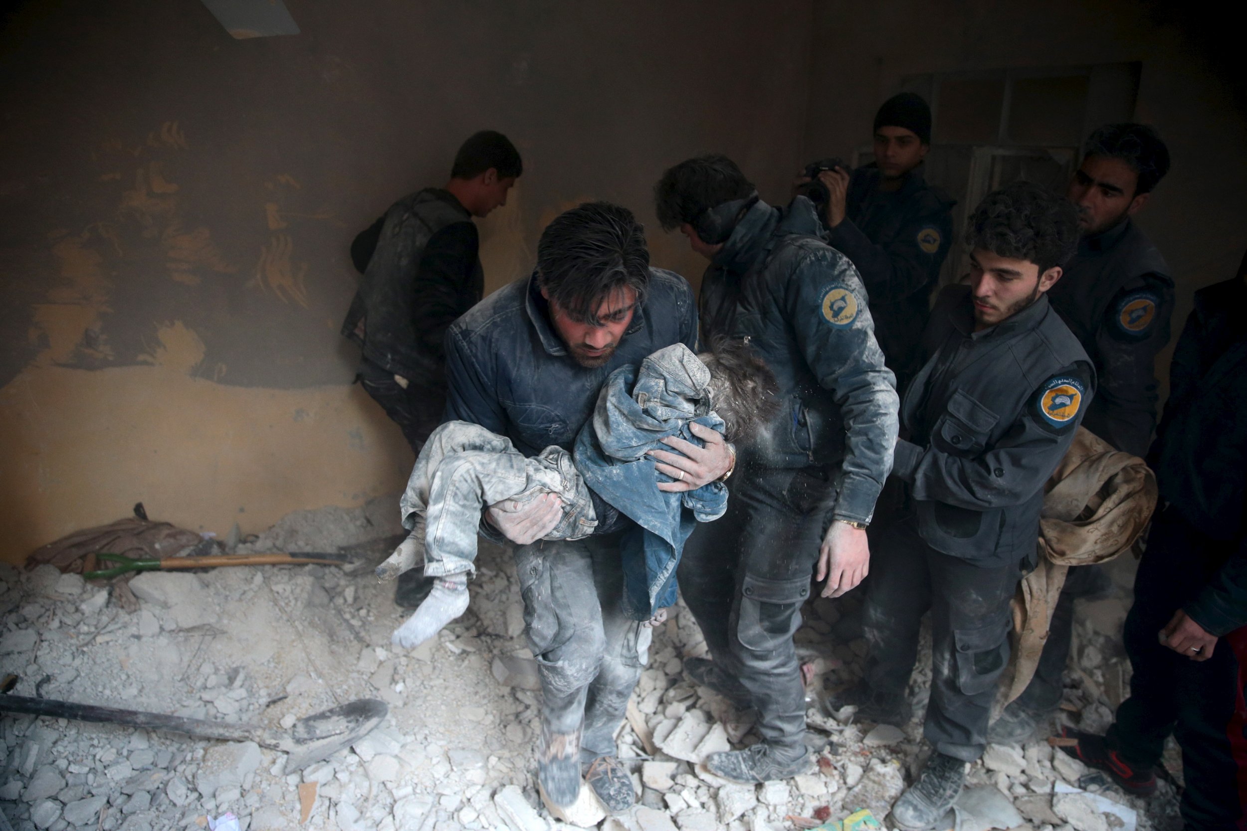
<instances>
[{"instance_id":1,"label":"dusty dark jacket of the man standing right beside the child's head","mask_svg":"<svg viewBox=\"0 0 1247 831\"><path fill-rule=\"evenodd\" d=\"M758 201L715 257L703 306L736 294L731 334L779 384L779 416L754 442L761 463L838 468L832 515L869 522L892 467L895 380L857 269L819 232L807 198L783 211Z\"/></svg>"}]
</instances>

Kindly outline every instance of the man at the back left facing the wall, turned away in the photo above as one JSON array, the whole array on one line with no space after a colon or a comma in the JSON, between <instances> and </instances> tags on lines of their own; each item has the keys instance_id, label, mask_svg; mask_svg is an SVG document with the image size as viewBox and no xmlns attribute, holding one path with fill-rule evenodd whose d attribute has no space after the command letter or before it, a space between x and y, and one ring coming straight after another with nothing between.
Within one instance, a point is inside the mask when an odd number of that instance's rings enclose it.
<instances>
[{"instance_id":1,"label":"man at the back left facing the wall, turned away","mask_svg":"<svg viewBox=\"0 0 1247 831\"><path fill-rule=\"evenodd\" d=\"M355 380L403 430L416 456L446 405L443 338L485 289L471 219L506 204L521 172L520 154L506 136L475 133L455 154L444 188L399 199L350 247L363 278L342 334L363 349ZM421 568L404 572L394 602L416 607L431 584Z\"/></svg>"}]
</instances>

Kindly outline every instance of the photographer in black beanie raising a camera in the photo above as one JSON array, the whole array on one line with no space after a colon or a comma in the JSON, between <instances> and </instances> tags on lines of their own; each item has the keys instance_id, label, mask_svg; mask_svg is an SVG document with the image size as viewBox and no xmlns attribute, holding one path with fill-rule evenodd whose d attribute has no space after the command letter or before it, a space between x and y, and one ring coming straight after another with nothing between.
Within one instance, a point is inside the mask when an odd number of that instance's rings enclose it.
<instances>
[{"instance_id":1,"label":"photographer in black beanie raising a camera","mask_svg":"<svg viewBox=\"0 0 1247 831\"><path fill-rule=\"evenodd\" d=\"M827 242L862 274L875 338L902 392L920 365L918 339L953 238L956 202L922 176L930 135L930 107L902 92L874 117L873 163L854 171L823 159L797 179L818 207Z\"/></svg>"}]
</instances>

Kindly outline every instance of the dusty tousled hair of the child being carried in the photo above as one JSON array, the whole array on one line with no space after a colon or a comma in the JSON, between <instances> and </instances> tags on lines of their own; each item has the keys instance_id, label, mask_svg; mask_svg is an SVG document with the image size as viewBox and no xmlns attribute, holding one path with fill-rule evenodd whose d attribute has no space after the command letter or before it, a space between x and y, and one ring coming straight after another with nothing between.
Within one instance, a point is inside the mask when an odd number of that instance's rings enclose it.
<instances>
[{"instance_id":1,"label":"dusty tousled hair of the child being carried","mask_svg":"<svg viewBox=\"0 0 1247 831\"><path fill-rule=\"evenodd\" d=\"M725 439L751 439L778 415L779 382L743 340L716 339L698 358L710 370L711 406Z\"/></svg>"}]
</instances>

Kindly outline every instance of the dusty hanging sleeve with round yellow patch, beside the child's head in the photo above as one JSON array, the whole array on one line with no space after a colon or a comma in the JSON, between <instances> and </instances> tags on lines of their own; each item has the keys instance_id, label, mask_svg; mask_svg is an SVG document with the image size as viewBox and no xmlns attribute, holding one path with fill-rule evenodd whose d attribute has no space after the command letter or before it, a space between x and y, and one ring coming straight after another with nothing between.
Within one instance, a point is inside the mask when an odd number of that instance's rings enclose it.
<instances>
[{"instance_id":1,"label":"dusty hanging sleeve with round yellow patch, beside the child's head","mask_svg":"<svg viewBox=\"0 0 1247 831\"><path fill-rule=\"evenodd\" d=\"M819 385L831 390L844 422L844 460L832 516L869 522L892 470L899 399L883 365L874 321L853 264L822 248L804 255L787 282L786 316Z\"/></svg>"}]
</instances>

